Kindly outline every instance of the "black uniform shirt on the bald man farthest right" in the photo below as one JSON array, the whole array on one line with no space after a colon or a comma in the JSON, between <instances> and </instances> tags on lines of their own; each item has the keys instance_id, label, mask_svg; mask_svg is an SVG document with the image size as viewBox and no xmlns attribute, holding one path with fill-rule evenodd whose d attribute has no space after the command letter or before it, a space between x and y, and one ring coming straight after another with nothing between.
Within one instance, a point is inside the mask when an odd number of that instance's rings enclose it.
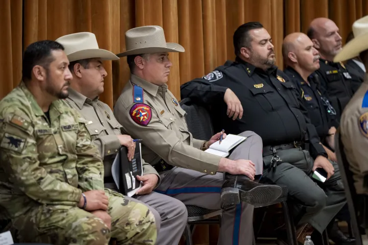
<instances>
[{"instance_id":1,"label":"black uniform shirt on the bald man farthest right","mask_svg":"<svg viewBox=\"0 0 368 245\"><path fill-rule=\"evenodd\" d=\"M319 65L319 69L315 72L320 78L321 89L328 93L337 117L340 118L343 109L354 94L352 76L341 62L334 63L319 59Z\"/></svg>"}]
</instances>

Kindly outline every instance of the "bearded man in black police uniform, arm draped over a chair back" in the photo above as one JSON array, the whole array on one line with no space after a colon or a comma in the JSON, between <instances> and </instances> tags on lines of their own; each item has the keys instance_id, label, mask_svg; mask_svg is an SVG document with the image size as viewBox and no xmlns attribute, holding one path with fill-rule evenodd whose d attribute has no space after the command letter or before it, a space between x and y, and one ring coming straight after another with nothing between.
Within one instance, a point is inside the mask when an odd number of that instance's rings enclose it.
<instances>
[{"instance_id":1,"label":"bearded man in black police uniform, arm draped over a chair back","mask_svg":"<svg viewBox=\"0 0 368 245\"><path fill-rule=\"evenodd\" d=\"M260 135L264 145L261 180L288 186L289 195L296 200L294 219L300 225L300 240L311 231L306 223L321 233L346 203L339 171L319 144L308 112L296 96L296 86L273 65L272 39L262 24L242 24L233 40L236 61L183 84L181 97L211 105L215 130L224 128L232 134L251 130ZM227 89L241 102L241 118L227 115L228 106L223 103ZM322 187L311 178L316 168L328 173Z\"/></svg>"}]
</instances>

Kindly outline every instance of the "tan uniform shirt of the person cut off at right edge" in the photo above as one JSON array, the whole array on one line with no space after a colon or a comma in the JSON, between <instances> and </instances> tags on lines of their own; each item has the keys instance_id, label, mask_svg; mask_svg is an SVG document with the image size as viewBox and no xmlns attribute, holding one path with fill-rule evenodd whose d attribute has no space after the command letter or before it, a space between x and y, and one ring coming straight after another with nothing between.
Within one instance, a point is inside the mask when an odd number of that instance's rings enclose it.
<instances>
[{"instance_id":1,"label":"tan uniform shirt of the person cut off at right edge","mask_svg":"<svg viewBox=\"0 0 368 245\"><path fill-rule=\"evenodd\" d=\"M363 187L368 175L368 76L356 91L340 120L341 141L350 169L354 174L355 188L359 194L368 194Z\"/></svg>"}]
</instances>

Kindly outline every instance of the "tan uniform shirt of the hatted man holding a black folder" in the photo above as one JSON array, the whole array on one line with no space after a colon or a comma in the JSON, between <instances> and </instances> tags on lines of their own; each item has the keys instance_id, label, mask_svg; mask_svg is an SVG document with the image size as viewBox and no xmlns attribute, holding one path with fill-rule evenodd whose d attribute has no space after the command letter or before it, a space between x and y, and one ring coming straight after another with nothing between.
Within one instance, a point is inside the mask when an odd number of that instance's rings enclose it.
<instances>
[{"instance_id":1,"label":"tan uniform shirt of the hatted man holding a black folder","mask_svg":"<svg viewBox=\"0 0 368 245\"><path fill-rule=\"evenodd\" d=\"M105 177L111 177L112 162L120 147L117 135L121 134L121 125L114 117L110 107L98 100L90 100L83 94L69 89L66 99L75 109L80 111L87 121L86 127L92 140L97 145L104 161ZM155 174L157 171L142 159L144 174Z\"/></svg>"}]
</instances>

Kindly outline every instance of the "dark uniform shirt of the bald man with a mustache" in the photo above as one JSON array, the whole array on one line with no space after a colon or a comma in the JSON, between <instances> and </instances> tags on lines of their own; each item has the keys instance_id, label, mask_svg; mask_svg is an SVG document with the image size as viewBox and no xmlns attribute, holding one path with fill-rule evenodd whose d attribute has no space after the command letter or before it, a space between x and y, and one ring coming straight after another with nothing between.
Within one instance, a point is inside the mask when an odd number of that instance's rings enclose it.
<instances>
[{"instance_id":1,"label":"dark uniform shirt of the bald man with a mustache","mask_svg":"<svg viewBox=\"0 0 368 245\"><path fill-rule=\"evenodd\" d=\"M319 88L318 75L312 74L306 82L292 67L287 67L284 72L298 87L298 96L301 97L311 122L316 128L319 138L324 139L328 136L331 127L338 128L338 121L336 111L329 102L327 94L321 92Z\"/></svg>"}]
</instances>

